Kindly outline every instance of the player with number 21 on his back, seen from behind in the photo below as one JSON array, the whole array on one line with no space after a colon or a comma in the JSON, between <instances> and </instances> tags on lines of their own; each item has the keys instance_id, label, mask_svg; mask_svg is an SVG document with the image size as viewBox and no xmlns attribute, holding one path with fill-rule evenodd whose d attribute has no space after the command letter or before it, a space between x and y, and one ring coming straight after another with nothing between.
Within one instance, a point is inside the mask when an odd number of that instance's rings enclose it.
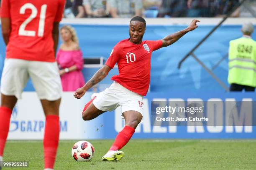
<instances>
[{"instance_id":1,"label":"player with number 21 on his back, seen from behind","mask_svg":"<svg viewBox=\"0 0 256 170\"><path fill-rule=\"evenodd\" d=\"M46 115L44 168L54 168L62 91L55 52L64 5L65 0L2 0L2 34L7 46L1 78L0 160L13 107L31 77Z\"/></svg>"}]
</instances>

